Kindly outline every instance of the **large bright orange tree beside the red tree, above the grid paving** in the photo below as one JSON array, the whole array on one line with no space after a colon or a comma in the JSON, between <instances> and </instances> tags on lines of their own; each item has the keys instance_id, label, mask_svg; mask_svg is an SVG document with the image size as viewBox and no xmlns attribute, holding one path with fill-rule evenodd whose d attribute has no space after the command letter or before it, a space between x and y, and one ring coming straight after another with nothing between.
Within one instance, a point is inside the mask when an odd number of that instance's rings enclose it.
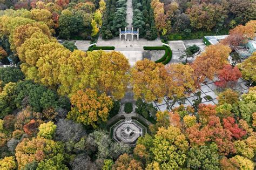
<instances>
[{"instance_id":1,"label":"large bright orange tree beside the red tree, above the grid paving","mask_svg":"<svg viewBox=\"0 0 256 170\"><path fill-rule=\"evenodd\" d=\"M214 74L227 63L230 52L230 47L221 44L206 47L205 52L191 65L198 82L204 81L205 78L213 79Z\"/></svg>"}]
</instances>

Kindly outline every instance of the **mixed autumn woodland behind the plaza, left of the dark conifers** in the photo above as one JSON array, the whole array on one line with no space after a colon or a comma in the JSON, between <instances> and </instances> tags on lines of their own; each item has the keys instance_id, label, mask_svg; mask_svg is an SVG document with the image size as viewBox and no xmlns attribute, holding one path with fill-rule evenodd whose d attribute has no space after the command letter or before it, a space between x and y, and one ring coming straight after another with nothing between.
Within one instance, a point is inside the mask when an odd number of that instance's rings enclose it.
<instances>
[{"instance_id":1,"label":"mixed autumn woodland behind the plaza, left of the dark conifers","mask_svg":"<svg viewBox=\"0 0 256 170\"><path fill-rule=\"evenodd\" d=\"M90 40L97 35L102 26L105 2L69 2L69 1L4 1L0 12L5 16L21 16L45 22L53 35L64 39ZM13 10L13 8L15 10ZM30 10L31 9L31 10Z\"/></svg>"}]
</instances>

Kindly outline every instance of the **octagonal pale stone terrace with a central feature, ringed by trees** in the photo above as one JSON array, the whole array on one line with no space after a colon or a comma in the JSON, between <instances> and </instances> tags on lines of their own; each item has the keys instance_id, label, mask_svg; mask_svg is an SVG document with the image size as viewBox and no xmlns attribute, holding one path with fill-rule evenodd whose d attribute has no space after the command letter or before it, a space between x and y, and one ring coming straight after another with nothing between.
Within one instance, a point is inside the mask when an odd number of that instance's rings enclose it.
<instances>
[{"instance_id":1,"label":"octagonal pale stone terrace with a central feature, ringed by trees","mask_svg":"<svg viewBox=\"0 0 256 170\"><path fill-rule=\"evenodd\" d=\"M112 138L117 142L123 142L129 146L135 146L139 137L146 133L146 127L137 120L119 120L110 128Z\"/></svg>"}]
</instances>

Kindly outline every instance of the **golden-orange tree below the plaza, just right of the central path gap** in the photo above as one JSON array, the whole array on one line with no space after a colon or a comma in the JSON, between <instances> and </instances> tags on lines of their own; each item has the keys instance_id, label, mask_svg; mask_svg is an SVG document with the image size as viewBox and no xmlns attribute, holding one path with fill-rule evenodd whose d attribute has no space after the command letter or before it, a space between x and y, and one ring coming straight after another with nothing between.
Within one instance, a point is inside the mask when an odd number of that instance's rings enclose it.
<instances>
[{"instance_id":1,"label":"golden-orange tree below the plaza, just right of the central path gap","mask_svg":"<svg viewBox=\"0 0 256 170\"><path fill-rule=\"evenodd\" d=\"M138 61L131 70L134 98L146 101L163 98L166 94L166 76L163 64L148 59Z\"/></svg>"}]
</instances>

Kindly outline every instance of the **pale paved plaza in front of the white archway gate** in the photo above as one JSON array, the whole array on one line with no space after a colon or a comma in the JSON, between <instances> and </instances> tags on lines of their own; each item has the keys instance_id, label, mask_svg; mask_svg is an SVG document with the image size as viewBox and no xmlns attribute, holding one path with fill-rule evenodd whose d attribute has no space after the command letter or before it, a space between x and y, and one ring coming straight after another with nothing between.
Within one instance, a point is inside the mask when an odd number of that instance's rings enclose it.
<instances>
[{"instance_id":1,"label":"pale paved plaza in front of the white archway gate","mask_svg":"<svg viewBox=\"0 0 256 170\"><path fill-rule=\"evenodd\" d=\"M76 46L79 50L87 51L90 46L90 41L87 40L77 40ZM172 59L170 63L181 63L184 59L180 59L180 56L183 55L186 47L192 45L198 45L200 47L200 51L203 52L205 50L205 45L203 43L203 39L193 39L193 40L175 40L169 41L169 45L172 50ZM164 51L144 51L143 46L162 46L160 38L158 37L155 40L146 40L144 38L140 38L138 41L136 38L132 41L131 36L127 36L127 41L122 39L119 40L118 37L114 37L113 39L102 39L99 37L97 46L114 46L115 51L122 52L127 59L129 59L129 63L133 66L138 60L143 60L144 58L151 59L153 61L158 60L164 55ZM188 62L192 62L194 58L189 58Z\"/></svg>"}]
</instances>

